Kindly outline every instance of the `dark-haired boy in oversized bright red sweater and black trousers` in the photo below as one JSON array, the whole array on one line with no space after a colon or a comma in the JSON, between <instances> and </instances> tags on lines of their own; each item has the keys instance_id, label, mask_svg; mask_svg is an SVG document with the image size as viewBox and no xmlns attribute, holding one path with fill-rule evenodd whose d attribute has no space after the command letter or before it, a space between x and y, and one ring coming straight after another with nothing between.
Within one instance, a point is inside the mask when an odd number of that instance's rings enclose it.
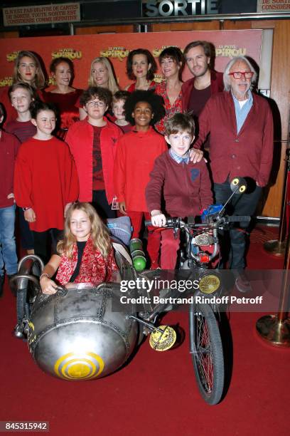
<instances>
[{"instance_id":1,"label":"dark-haired boy in oversized bright red sweater and black trousers","mask_svg":"<svg viewBox=\"0 0 290 436\"><path fill-rule=\"evenodd\" d=\"M63 233L63 217L79 193L77 170L68 145L52 135L55 108L33 102L32 122L36 135L19 148L15 172L16 204L33 232L34 249L43 261L50 259L48 239L56 245Z\"/></svg>"}]
</instances>

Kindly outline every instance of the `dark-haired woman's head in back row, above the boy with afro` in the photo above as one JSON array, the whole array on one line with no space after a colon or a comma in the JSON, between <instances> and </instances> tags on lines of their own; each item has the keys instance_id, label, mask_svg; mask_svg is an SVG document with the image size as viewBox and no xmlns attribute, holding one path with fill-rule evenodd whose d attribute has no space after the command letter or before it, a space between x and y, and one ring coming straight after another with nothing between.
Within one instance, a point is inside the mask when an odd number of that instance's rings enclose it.
<instances>
[{"instance_id":1,"label":"dark-haired woman's head in back row, above the boy with afro","mask_svg":"<svg viewBox=\"0 0 290 436\"><path fill-rule=\"evenodd\" d=\"M146 48L136 48L129 53L127 58L127 76L134 83L128 85L126 90L132 93L134 90L148 90L155 88L154 73L157 66L154 57Z\"/></svg>"}]
</instances>

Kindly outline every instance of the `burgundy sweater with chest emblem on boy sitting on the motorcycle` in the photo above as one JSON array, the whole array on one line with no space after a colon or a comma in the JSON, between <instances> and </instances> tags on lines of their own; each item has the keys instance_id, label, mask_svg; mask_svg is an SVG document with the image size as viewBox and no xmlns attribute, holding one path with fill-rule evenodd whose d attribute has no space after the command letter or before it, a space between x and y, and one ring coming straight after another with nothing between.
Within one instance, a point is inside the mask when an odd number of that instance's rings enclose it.
<instances>
[{"instance_id":1,"label":"burgundy sweater with chest emblem on boy sitting on the motorcycle","mask_svg":"<svg viewBox=\"0 0 290 436\"><path fill-rule=\"evenodd\" d=\"M171 217L192 217L213 204L210 176L205 161L178 163L164 152L157 157L146 186L149 212L161 210L161 195Z\"/></svg>"}]
</instances>

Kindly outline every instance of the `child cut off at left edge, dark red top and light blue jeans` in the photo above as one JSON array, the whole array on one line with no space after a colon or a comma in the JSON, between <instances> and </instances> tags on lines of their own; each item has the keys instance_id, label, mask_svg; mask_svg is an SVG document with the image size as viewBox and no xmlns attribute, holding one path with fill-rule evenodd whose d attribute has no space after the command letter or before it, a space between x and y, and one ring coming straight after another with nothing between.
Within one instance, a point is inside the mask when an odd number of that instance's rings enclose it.
<instances>
[{"instance_id":1,"label":"child cut off at left edge, dark red top and light blue jeans","mask_svg":"<svg viewBox=\"0 0 290 436\"><path fill-rule=\"evenodd\" d=\"M0 103L0 124L4 120L4 106ZM14 162L20 142L14 135L0 129L0 296L6 274L17 272L17 256L14 237Z\"/></svg>"}]
</instances>

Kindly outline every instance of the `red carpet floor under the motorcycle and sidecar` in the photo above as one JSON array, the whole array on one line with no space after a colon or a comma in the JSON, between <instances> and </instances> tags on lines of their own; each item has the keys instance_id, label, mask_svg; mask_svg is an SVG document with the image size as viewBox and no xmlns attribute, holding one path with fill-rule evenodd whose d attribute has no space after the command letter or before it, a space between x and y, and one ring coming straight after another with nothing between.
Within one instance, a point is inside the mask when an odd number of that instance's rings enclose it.
<instances>
[{"instance_id":1,"label":"red carpet floor under the motorcycle and sidecar","mask_svg":"<svg viewBox=\"0 0 290 436\"><path fill-rule=\"evenodd\" d=\"M268 237L267 232L264 227L254 230L249 268L282 267L282 259L262 249L259 239ZM27 344L12 336L16 309L7 286L0 306L2 421L49 421L52 435L289 434L289 349L274 348L257 337L259 313L230 313L228 389L219 405L208 406L195 384L186 313L171 312L163 319L184 329L186 337L178 348L157 353L146 341L117 373L73 383L42 373Z\"/></svg>"}]
</instances>

